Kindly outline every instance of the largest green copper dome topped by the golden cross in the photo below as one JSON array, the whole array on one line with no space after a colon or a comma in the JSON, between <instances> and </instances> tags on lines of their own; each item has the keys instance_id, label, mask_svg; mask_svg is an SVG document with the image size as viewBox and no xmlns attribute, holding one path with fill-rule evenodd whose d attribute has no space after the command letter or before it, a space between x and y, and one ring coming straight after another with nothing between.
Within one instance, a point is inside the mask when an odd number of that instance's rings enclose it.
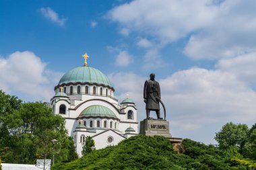
<instances>
[{"instance_id":1,"label":"largest green copper dome topped by the golden cross","mask_svg":"<svg viewBox=\"0 0 256 170\"><path fill-rule=\"evenodd\" d=\"M58 85L67 83L98 83L101 85L110 86L110 81L101 71L93 67L82 66L76 67L71 71L65 73Z\"/></svg>"}]
</instances>

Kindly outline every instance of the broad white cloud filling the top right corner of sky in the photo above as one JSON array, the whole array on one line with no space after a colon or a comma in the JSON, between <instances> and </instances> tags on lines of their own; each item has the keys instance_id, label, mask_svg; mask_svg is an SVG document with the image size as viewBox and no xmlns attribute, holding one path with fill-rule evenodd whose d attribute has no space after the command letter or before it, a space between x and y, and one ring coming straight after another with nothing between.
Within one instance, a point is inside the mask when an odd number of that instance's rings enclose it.
<instances>
[{"instance_id":1,"label":"broad white cloud filling the top right corner of sky","mask_svg":"<svg viewBox=\"0 0 256 170\"><path fill-rule=\"evenodd\" d=\"M114 7L108 17L159 42L189 38L187 56L218 59L256 51L255 5L254 0L135 0Z\"/></svg>"}]
</instances>

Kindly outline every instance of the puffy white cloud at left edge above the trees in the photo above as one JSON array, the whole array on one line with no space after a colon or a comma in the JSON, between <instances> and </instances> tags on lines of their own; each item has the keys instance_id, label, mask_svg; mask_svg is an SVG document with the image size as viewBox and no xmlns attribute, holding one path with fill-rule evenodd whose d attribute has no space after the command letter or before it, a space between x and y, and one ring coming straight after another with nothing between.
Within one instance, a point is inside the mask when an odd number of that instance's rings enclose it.
<instances>
[{"instance_id":1,"label":"puffy white cloud at left edge above the trees","mask_svg":"<svg viewBox=\"0 0 256 170\"><path fill-rule=\"evenodd\" d=\"M1 89L13 95L19 93L28 101L49 101L61 75L46 69L46 63L30 51L18 51L0 58Z\"/></svg>"}]
</instances>

